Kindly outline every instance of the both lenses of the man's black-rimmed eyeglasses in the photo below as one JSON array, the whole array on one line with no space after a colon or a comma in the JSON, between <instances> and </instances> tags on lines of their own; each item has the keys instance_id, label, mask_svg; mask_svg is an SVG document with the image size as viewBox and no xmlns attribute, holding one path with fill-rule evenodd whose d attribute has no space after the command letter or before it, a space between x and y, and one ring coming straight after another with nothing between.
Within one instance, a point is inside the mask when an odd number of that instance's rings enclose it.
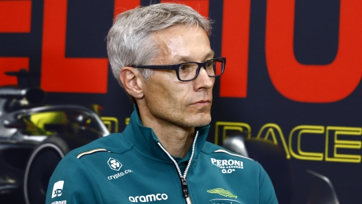
<instances>
[{"instance_id":1,"label":"both lenses of the man's black-rimmed eyeglasses","mask_svg":"<svg viewBox=\"0 0 362 204\"><path fill-rule=\"evenodd\" d=\"M223 64L223 60L210 60L206 62L204 68L209 77L217 77L222 74ZM195 78L198 67L198 64L192 62L180 64L180 67L178 68L178 75L180 79L189 80Z\"/></svg>"}]
</instances>

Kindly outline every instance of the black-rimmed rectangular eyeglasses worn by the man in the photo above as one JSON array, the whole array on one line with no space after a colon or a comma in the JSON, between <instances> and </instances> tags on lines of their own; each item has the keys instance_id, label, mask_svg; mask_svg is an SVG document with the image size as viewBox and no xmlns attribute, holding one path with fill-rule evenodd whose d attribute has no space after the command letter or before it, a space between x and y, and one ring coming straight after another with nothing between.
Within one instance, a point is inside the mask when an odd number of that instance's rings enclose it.
<instances>
[{"instance_id":1,"label":"black-rimmed rectangular eyeglasses worn by the man","mask_svg":"<svg viewBox=\"0 0 362 204\"><path fill-rule=\"evenodd\" d=\"M170 65L138 65L134 68L167 69L176 71L180 81L192 81L196 79L202 67L209 77L219 77L224 73L226 58L213 58L205 62L182 62Z\"/></svg>"}]
</instances>

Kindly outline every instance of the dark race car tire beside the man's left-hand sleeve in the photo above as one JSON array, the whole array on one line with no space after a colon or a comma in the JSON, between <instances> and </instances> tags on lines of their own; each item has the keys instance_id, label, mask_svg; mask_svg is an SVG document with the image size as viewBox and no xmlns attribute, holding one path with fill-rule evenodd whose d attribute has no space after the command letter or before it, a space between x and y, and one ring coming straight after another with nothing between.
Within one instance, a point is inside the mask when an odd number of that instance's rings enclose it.
<instances>
[{"instance_id":1,"label":"dark race car tire beside the man's left-hand sleeve","mask_svg":"<svg viewBox=\"0 0 362 204\"><path fill-rule=\"evenodd\" d=\"M51 136L34 147L24 176L26 204L45 203L49 179L70 150L67 142L57 136Z\"/></svg>"}]
</instances>

